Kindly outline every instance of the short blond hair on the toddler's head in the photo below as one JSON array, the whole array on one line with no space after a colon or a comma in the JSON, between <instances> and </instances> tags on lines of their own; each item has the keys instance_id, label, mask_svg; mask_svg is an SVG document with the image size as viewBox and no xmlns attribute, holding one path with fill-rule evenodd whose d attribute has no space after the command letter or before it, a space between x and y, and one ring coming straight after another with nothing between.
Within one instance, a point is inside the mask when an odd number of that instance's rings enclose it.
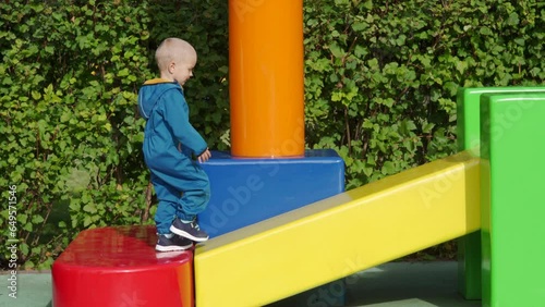
<instances>
[{"instance_id":1,"label":"short blond hair on the toddler's head","mask_svg":"<svg viewBox=\"0 0 545 307\"><path fill-rule=\"evenodd\" d=\"M170 37L165 39L155 51L155 60L159 71L165 72L170 63L181 62L191 54L196 57L196 51L191 44L180 38Z\"/></svg>"}]
</instances>

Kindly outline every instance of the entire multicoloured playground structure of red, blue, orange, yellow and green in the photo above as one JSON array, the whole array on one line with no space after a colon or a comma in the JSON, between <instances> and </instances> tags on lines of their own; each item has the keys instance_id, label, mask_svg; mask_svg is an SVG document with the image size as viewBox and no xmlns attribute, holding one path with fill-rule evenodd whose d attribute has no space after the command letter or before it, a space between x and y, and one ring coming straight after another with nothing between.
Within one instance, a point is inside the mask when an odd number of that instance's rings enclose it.
<instances>
[{"instance_id":1,"label":"entire multicoloured playground structure of red, blue, orange, yellow and green","mask_svg":"<svg viewBox=\"0 0 545 307\"><path fill-rule=\"evenodd\" d=\"M205 164L217 173L216 199L199 216L214 237L194 250L156 254L154 228L84 231L53 263L56 307L259 306L324 284L327 291L327 283L467 234L462 293L482 284L485 306L545 300L545 248L535 240L545 235L545 88L462 89L467 151L342 192L342 161L304 151L302 32L282 36L300 30L302 1L229 7L230 48L238 50L230 54L233 151ZM279 21L289 28L275 32ZM251 42L258 37L267 41ZM283 58L274 57L278 46L290 46ZM477 90L488 94L465 99ZM287 128L277 134L279 123ZM229 182L217 181L226 175ZM305 185L308 176L320 180ZM319 299L310 294L307 303Z\"/></svg>"}]
</instances>

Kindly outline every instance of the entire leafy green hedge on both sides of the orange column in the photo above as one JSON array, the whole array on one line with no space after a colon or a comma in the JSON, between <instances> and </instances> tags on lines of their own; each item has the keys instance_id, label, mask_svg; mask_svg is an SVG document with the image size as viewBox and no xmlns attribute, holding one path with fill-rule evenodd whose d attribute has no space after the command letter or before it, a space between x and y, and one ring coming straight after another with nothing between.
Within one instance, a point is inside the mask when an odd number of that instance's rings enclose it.
<instances>
[{"instance_id":1,"label":"entire leafy green hedge on both sides of the orange column","mask_svg":"<svg viewBox=\"0 0 545 307\"><path fill-rule=\"evenodd\" d=\"M306 0L307 147L337 149L349 188L451 155L460 86L543 84L543 9ZM195 46L192 121L229 149L226 0L10 0L0 15L0 226L24 268L49 268L83 229L152 222L136 94L164 38Z\"/></svg>"}]
</instances>

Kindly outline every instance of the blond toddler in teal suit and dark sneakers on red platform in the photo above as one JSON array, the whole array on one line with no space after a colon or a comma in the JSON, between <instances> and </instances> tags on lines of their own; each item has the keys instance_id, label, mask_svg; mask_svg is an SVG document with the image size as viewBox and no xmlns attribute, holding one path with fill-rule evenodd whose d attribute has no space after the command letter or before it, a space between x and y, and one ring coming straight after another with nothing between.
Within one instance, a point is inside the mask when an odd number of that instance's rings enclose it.
<instances>
[{"instance_id":1,"label":"blond toddler in teal suit and dark sneakers on red platform","mask_svg":"<svg viewBox=\"0 0 545 307\"><path fill-rule=\"evenodd\" d=\"M185 40L167 38L155 58L160 77L144 83L138 93L140 113L147 121L144 159L159 199L155 248L183 250L191 248L193 242L208 240L196 223L196 214L210 198L208 176L199 165L210 158L210 151L190 123L182 88L193 76L197 54Z\"/></svg>"}]
</instances>

